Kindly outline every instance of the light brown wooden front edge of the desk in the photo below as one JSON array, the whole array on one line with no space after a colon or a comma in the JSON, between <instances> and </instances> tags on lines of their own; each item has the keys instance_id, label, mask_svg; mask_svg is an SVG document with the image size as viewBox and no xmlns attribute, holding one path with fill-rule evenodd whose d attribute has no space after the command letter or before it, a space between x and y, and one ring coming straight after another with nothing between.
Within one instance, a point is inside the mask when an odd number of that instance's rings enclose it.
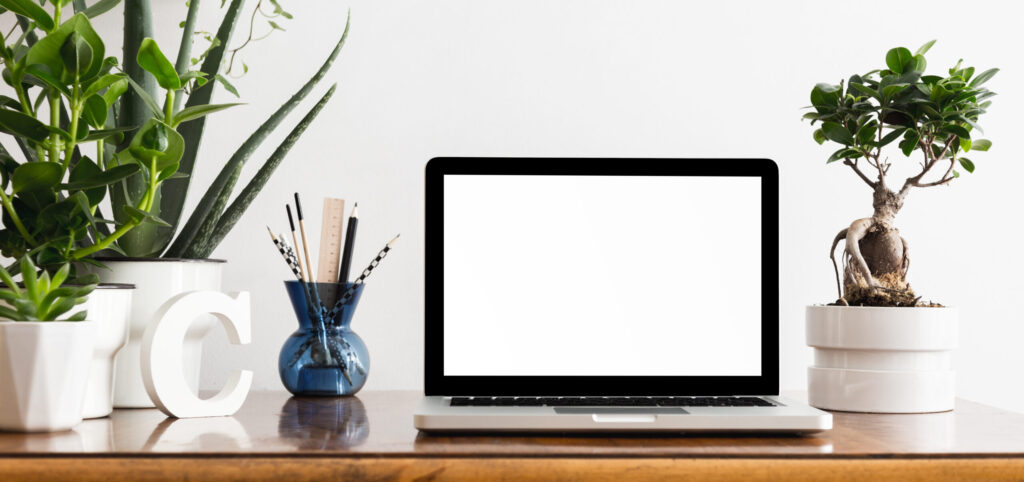
<instances>
[{"instance_id":1,"label":"light brown wooden front edge of the desk","mask_svg":"<svg viewBox=\"0 0 1024 482\"><path fill-rule=\"evenodd\" d=\"M5 480L1020 480L1024 457L18 456Z\"/></svg>"}]
</instances>

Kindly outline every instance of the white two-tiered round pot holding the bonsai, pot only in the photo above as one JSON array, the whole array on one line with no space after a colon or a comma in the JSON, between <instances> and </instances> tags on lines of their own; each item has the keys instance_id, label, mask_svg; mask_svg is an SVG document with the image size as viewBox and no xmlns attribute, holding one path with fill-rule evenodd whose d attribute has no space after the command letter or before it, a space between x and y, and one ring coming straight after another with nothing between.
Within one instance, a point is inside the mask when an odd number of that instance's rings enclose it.
<instances>
[{"instance_id":1,"label":"white two-tiered round pot holding the bonsai, pot only","mask_svg":"<svg viewBox=\"0 0 1024 482\"><path fill-rule=\"evenodd\" d=\"M953 409L955 308L808 306L808 401L880 413Z\"/></svg>"}]
</instances>

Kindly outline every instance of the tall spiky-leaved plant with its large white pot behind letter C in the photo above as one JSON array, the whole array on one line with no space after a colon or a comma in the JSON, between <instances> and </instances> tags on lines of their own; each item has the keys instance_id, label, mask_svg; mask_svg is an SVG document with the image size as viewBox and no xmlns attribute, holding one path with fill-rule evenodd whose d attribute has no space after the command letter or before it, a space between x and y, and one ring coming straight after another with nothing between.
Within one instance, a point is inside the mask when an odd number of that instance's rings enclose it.
<instances>
[{"instance_id":1,"label":"tall spiky-leaved plant with its large white pot behind letter C","mask_svg":"<svg viewBox=\"0 0 1024 482\"><path fill-rule=\"evenodd\" d=\"M152 35L153 18L148 1L126 0L124 3L124 58L129 59L142 54L143 49L140 45ZM98 4L97 2L96 5ZM142 62L135 64L124 62L125 73L131 80L133 88L123 96L117 126L138 125L151 122L152 119L162 119L180 135L183 151L177 164L177 175L167 178L157 186L156 199L160 201L148 211L161 222L144 224L133 229L118 239L110 250L99 253L101 257L97 258L106 267L95 270L103 281L136 286L129 342L117 361L116 406L154 406L142 384L138 362L140 342L145 327L158 308L174 296L188 291L220 289L223 262L211 260L209 256L246 212L305 129L318 116L335 88L332 86L328 89L267 158L255 176L228 203L242 168L256 148L281 126L287 116L327 75L348 36L349 23L346 19L340 40L334 45L319 69L239 146L207 187L196 210L184 220L183 207L190 184L188 175L196 166L206 127L206 118L202 117L202 114L230 105L209 103L216 86L222 86L238 95L222 72L224 64L230 65L230 61L241 48L228 48L236 26L243 16L255 18L257 13L262 13L261 16L268 18L291 16L278 2L262 0L256 2L252 16L243 15L243 0L231 0L226 4L224 17L216 34L209 37L211 42L209 48L193 58L195 37L193 26L199 15L199 0L188 3L180 48L173 64L162 53L154 55L152 64L157 69L146 68ZM276 24L271 21L271 25L276 28ZM242 46L249 44L254 38L251 23L249 29L248 39ZM200 64L200 69L195 73L188 71L193 64ZM189 80L191 85L184 89L183 95L168 96L162 104L156 100L159 98L155 93L158 86L168 89L185 80ZM211 82L206 82L207 80ZM173 122L179 119L180 122ZM125 217L120 207L131 206L137 202L139 195L144 195L141 193L145 192L145 178L139 174L130 175L111 184L109 189L114 217L124 222ZM201 341L213 326L214 319L212 316L197 319L185 338L184 369L194 390L198 389L199 385Z\"/></svg>"}]
</instances>

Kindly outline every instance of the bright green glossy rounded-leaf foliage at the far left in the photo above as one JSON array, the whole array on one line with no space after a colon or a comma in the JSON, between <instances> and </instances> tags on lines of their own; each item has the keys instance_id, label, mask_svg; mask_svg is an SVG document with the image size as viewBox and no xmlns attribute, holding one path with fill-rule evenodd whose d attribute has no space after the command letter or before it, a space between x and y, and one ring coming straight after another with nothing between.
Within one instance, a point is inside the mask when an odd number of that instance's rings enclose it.
<instances>
[{"instance_id":1,"label":"bright green glossy rounded-leaf foliage at the far left","mask_svg":"<svg viewBox=\"0 0 1024 482\"><path fill-rule=\"evenodd\" d=\"M14 94L0 96L0 132L15 139L23 157L19 162L0 147L0 252L12 258L31 255L50 272L68 261L117 250L116 242L139 226L166 224L154 208L160 184L175 175L184 151L174 128L229 106L172 112L168 106L178 92L206 80L199 72L179 76L156 42L145 38L128 63L158 80L166 92L165 107L138 93L153 117L112 127L112 113L123 95L140 92L117 71L118 60L104 56L103 41L89 20L112 2L95 2L61 23L66 3L52 2L51 12L32 1L0 0L4 15L28 20L18 23L23 33L16 41L0 41L3 79ZM121 146L114 148L118 142ZM86 146L95 147L95 161L83 154ZM129 177L143 179L142 189L114 206L114 220L103 219L99 204L108 186L120 186Z\"/></svg>"}]
</instances>

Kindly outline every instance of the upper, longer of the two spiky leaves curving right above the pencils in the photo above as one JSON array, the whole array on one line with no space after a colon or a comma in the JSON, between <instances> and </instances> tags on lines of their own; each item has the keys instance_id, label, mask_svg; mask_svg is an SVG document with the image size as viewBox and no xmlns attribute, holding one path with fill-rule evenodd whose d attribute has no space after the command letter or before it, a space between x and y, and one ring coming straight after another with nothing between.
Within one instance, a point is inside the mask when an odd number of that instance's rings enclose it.
<instances>
[{"instance_id":1,"label":"upper, longer of the two spiky leaves curving right above the pencils","mask_svg":"<svg viewBox=\"0 0 1024 482\"><path fill-rule=\"evenodd\" d=\"M171 245L168 250L168 256L179 257L186 251L188 247L193 244L196 238L196 234L199 232L200 226L206 222L206 218L210 215L210 211L217 198L221 195L230 195L230 189L225 189L227 187L228 178L231 176L231 172L238 168L238 165L245 164L245 162L252 156L253 151L259 147L260 144L266 139L266 137L278 128L279 125L285 120L285 118L295 108L296 105L301 102L306 95L313 89L313 87L327 75L331 65L334 64L335 58L338 57L338 53L341 52L341 48L345 45L345 40L348 38L348 30L351 20L351 13L349 13L348 19L345 21L345 31L341 34L341 39L335 45L334 50L328 55L327 59L321 65L319 70L316 71L313 76L306 81L306 83L300 88L291 98L288 99L281 107L274 112L270 118L268 118L263 125L261 125L252 135L246 139L245 142L231 155L224 167L221 168L220 173L214 179L210 187L207 188L206 193L203 194L202 200L196 207L196 211L189 216L188 221L181 228L181 232L178 237ZM189 99L189 102L191 99ZM198 124L198 123L191 123ZM183 165L184 163L182 163ZM215 217L219 217L214 214ZM173 221L172 221L173 222Z\"/></svg>"}]
</instances>

